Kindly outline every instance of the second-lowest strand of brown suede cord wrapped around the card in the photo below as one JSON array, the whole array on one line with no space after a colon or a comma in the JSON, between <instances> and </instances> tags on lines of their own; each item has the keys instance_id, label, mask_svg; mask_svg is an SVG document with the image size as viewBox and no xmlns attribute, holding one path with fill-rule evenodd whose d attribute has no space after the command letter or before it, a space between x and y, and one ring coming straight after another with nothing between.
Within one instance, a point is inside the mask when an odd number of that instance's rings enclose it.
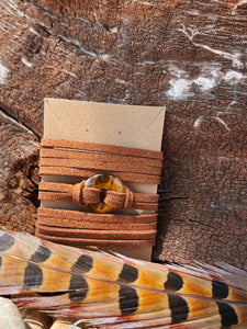
<instances>
[{"instance_id":1,"label":"second-lowest strand of brown suede cord wrapped around the card","mask_svg":"<svg viewBox=\"0 0 247 329\"><path fill-rule=\"evenodd\" d=\"M110 229L80 229L80 228L60 228L36 224L36 229L41 234L52 234L57 237L88 238L88 239L151 239L156 235L156 229L149 230L110 230Z\"/></svg>"}]
</instances>

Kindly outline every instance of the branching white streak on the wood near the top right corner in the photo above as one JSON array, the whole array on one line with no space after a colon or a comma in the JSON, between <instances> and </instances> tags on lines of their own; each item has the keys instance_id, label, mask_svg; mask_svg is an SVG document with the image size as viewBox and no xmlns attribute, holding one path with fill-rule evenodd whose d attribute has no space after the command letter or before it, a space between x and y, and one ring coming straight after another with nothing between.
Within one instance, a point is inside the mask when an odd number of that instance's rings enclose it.
<instances>
[{"instance_id":1,"label":"branching white streak on the wood near the top right corner","mask_svg":"<svg viewBox=\"0 0 247 329\"><path fill-rule=\"evenodd\" d=\"M220 49L215 49L215 48L212 48L207 45L203 45L203 44L200 44L200 43L195 43L193 41L194 36L200 34L199 31L194 30L194 29L191 29L191 27L186 27L183 24L182 24L182 27L181 29L177 29L177 31L180 31L182 32L188 38L189 41L195 46L195 47L201 47L203 49L206 49L215 55L218 55L225 59L228 59L228 60L232 60L232 65L234 67L237 67L237 68L243 68L244 65L243 63L240 61L240 57L242 57L242 54L240 53L227 53L227 52L223 52L223 50L220 50Z\"/></svg>"}]
</instances>

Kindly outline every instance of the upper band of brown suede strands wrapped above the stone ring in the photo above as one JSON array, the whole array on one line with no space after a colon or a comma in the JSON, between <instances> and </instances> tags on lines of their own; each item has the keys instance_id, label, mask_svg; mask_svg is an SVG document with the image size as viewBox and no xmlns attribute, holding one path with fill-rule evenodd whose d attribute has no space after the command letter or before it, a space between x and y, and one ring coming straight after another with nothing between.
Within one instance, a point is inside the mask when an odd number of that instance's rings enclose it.
<instances>
[{"instance_id":1,"label":"upper band of brown suede strands wrapped above the stone ring","mask_svg":"<svg viewBox=\"0 0 247 329\"><path fill-rule=\"evenodd\" d=\"M162 154L98 143L43 138L40 174L91 177L99 172L123 181L160 183Z\"/></svg>"}]
</instances>

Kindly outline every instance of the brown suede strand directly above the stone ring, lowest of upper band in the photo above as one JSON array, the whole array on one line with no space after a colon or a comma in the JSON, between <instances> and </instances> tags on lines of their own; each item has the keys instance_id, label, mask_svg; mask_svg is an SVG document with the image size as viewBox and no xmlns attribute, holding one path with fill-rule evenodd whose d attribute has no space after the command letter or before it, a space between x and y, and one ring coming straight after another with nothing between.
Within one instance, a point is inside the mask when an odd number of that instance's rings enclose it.
<instances>
[{"instance_id":1,"label":"brown suede strand directly above the stone ring, lowest of upper band","mask_svg":"<svg viewBox=\"0 0 247 329\"><path fill-rule=\"evenodd\" d=\"M105 170L100 170L100 172L109 173ZM88 178L97 173L99 173L99 170L78 169L78 168L70 168L70 167L50 167L50 166L40 167L40 174L47 174L47 175L72 175L79 178ZM138 182L138 183L146 183L146 184L160 183L160 177L158 175L120 172L117 170L112 170L111 174L116 175L122 181Z\"/></svg>"}]
</instances>

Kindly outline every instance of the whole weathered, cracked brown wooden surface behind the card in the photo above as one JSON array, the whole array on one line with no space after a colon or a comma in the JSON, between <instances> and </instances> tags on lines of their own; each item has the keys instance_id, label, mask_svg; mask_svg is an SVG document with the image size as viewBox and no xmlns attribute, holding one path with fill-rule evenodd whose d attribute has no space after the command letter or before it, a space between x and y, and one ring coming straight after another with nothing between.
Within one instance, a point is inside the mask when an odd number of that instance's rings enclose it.
<instances>
[{"instance_id":1,"label":"whole weathered, cracked brown wooden surface behind the card","mask_svg":"<svg viewBox=\"0 0 247 329\"><path fill-rule=\"evenodd\" d=\"M166 105L154 259L247 259L247 1L0 1L0 218L34 230L45 97Z\"/></svg>"}]
</instances>

